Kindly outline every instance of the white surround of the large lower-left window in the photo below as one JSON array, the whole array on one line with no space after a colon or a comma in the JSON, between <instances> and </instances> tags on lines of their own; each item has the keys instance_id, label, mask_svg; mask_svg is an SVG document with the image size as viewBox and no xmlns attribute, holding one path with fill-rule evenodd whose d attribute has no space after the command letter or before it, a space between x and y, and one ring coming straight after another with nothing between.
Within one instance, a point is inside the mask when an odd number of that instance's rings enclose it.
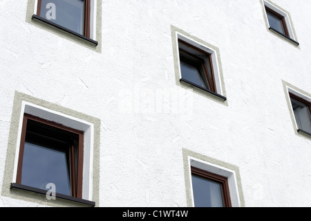
<instances>
[{"instance_id":1,"label":"white surround of the large lower-left window","mask_svg":"<svg viewBox=\"0 0 311 221\"><path fill-rule=\"evenodd\" d=\"M82 199L91 201L93 195L93 123L88 123L73 116L68 116L66 114L55 112L53 110L47 109L45 107L40 107L39 105L34 105L32 103L28 103L26 101L22 101L21 103L21 114L19 116L19 130L17 134L16 146L17 154L15 154L12 182L15 183L17 178L17 162L19 158L18 153L21 141L23 115L25 113L44 118L48 121L54 121L55 123L65 125L66 127L71 127L75 130L84 131Z\"/></svg>"}]
</instances>

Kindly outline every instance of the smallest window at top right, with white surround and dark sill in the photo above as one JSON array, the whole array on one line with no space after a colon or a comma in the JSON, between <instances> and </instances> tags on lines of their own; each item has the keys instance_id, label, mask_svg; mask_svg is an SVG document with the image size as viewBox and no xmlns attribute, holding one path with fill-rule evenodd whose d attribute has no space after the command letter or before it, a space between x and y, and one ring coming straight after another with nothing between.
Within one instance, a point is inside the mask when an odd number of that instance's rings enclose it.
<instances>
[{"instance_id":1,"label":"smallest window at top right, with white surround and dark sill","mask_svg":"<svg viewBox=\"0 0 311 221\"><path fill-rule=\"evenodd\" d=\"M281 36L298 46L299 42L296 42L295 40L296 35L294 29L292 29L292 21L289 12L286 12L279 6L275 6L274 3L265 0L263 0L263 6L267 19L267 28L278 36Z\"/></svg>"}]
</instances>

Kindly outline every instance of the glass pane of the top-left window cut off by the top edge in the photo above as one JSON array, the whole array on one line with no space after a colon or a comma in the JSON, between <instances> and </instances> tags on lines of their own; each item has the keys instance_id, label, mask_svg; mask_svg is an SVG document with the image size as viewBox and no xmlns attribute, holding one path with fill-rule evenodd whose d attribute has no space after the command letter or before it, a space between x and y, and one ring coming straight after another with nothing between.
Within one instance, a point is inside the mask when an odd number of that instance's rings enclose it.
<instances>
[{"instance_id":1,"label":"glass pane of the top-left window cut off by the top edge","mask_svg":"<svg viewBox=\"0 0 311 221\"><path fill-rule=\"evenodd\" d=\"M40 16L83 35L83 0L42 0Z\"/></svg>"}]
</instances>

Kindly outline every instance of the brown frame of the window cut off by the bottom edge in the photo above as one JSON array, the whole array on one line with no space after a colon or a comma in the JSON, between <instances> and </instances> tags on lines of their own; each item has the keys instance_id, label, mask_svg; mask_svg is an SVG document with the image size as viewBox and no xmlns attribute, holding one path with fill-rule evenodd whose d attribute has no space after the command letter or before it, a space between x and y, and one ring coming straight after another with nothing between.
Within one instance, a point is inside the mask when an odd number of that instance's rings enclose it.
<instances>
[{"instance_id":1,"label":"brown frame of the window cut off by the bottom edge","mask_svg":"<svg viewBox=\"0 0 311 221\"><path fill-rule=\"evenodd\" d=\"M198 175L200 177L204 177L206 179L210 179L214 182L218 182L221 184L222 189L223 189L223 202L225 207L232 207L232 202L230 198L230 193L229 193L229 183L227 177L223 177L221 175L217 175L214 173L210 173L206 170L202 170L200 168L196 168L194 166L191 166L191 175Z\"/></svg>"}]
</instances>

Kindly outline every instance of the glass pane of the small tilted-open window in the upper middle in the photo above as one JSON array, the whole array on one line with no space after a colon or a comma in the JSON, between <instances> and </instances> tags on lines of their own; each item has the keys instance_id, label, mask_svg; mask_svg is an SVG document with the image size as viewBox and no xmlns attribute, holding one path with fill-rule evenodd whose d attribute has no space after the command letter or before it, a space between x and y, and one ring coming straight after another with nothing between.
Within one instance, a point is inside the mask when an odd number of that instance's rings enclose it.
<instances>
[{"instance_id":1,"label":"glass pane of the small tilted-open window in the upper middle","mask_svg":"<svg viewBox=\"0 0 311 221\"><path fill-rule=\"evenodd\" d=\"M200 72L196 67L191 66L186 62L180 61L180 69L182 73L182 78L184 78L185 80L189 80L189 82L193 82L194 84L207 89L207 87L204 84L204 81L202 80L202 77L200 76Z\"/></svg>"}]
</instances>

